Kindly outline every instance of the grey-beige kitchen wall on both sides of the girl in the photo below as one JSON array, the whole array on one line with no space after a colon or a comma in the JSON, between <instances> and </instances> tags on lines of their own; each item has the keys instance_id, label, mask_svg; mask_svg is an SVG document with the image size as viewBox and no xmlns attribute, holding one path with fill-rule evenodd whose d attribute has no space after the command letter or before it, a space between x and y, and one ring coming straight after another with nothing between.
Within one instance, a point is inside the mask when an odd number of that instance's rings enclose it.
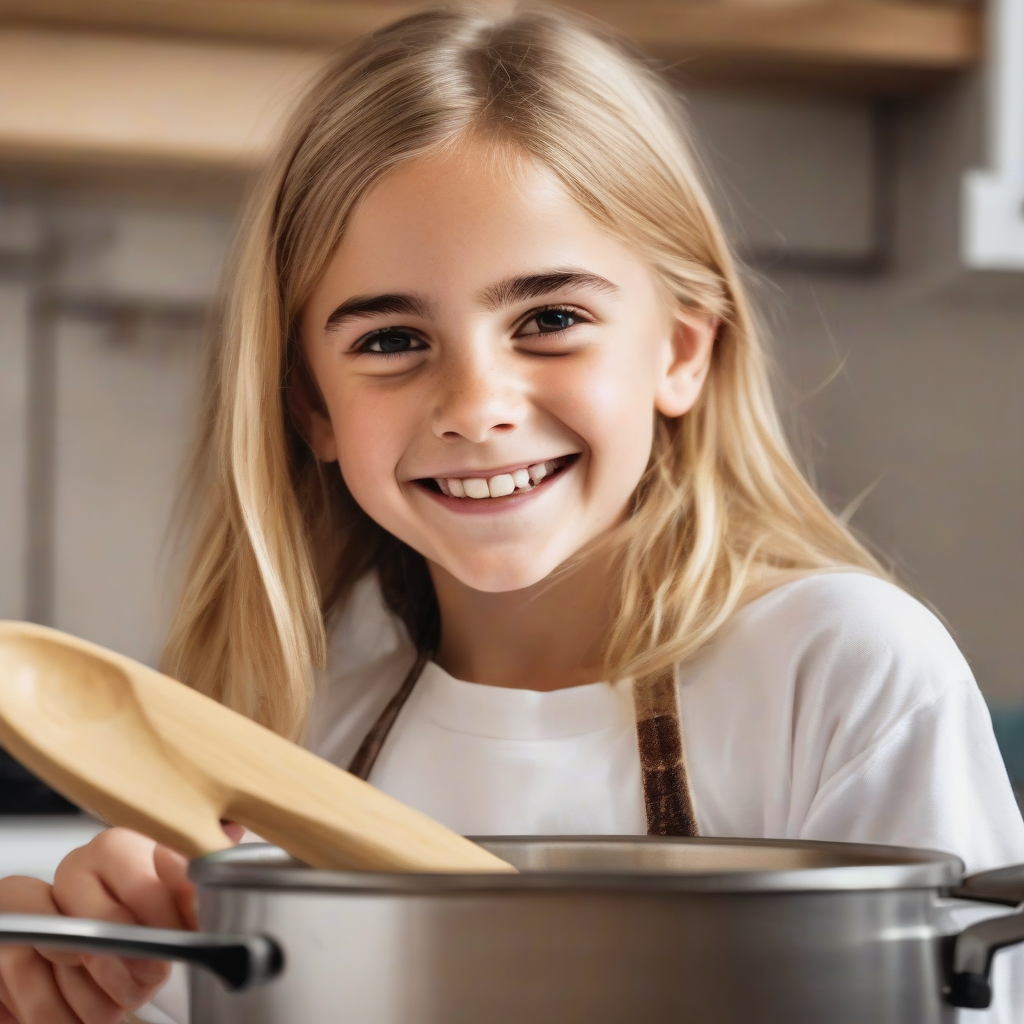
<instances>
[{"instance_id":1,"label":"grey-beige kitchen wall on both sides of the girl","mask_svg":"<svg viewBox=\"0 0 1024 1024\"><path fill-rule=\"evenodd\" d=\"M1024 275L965 274L955 252L976 84L895 112L695 93L691 116L754 264L801 457L834 507L859 502L854 526L944 616L989 697L1024 702ZM147 660L166 618L161 537L198 379L195 313L233 212L172 199L8 187L0 210L0 614L29 613L37 568L25 422L41 271L24 254L56 238L47 614ZM23 255L5 263L5 246Z\"/></svg>"}]
</instances>

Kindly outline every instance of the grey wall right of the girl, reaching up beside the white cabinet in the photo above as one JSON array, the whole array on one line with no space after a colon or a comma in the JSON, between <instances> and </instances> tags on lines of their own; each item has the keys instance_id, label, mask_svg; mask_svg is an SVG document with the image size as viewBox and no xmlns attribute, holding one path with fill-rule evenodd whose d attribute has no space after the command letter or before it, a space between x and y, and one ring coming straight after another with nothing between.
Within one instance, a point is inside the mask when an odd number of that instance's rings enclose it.
<instances>
[{"instance_id":1,"label":"grey wall right of the girl, reaching up beside the white cabinet","mask_svg":"<svg viewBox=\"0 0 1024 1024\"><path fill-rule=\"evenodd\" d=\"M758 292L798 451L1006 705L1024 702L1024 274L959 261L980 98L969 80L874 112L879 269L779 267Z\"/></svg>"}]
</instances>

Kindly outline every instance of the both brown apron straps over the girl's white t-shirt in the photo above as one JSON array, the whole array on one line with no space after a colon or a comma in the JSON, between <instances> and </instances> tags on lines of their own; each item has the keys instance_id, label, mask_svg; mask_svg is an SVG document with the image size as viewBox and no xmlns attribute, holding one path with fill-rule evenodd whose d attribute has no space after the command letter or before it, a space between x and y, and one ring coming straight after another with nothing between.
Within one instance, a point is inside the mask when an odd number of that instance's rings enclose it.
<instances>
[{"instance_id":1,"label":"both brown apron straps over the girl's white t-shirt","mask_svg":"<svg viewBox=\"0 0 1024 1024\"><path fill-rule=\"evenodd\" d=\"M431 651L420 651L413 667L388 701L380 718L355 752L348 770L368 779L409 695L413 692ZM633 684L637 746L643 777L643 802L648 836L698 836L693 799L686 777L683 730L679 718L679 693L672 669Z\"/></svg>"}]
</instances>

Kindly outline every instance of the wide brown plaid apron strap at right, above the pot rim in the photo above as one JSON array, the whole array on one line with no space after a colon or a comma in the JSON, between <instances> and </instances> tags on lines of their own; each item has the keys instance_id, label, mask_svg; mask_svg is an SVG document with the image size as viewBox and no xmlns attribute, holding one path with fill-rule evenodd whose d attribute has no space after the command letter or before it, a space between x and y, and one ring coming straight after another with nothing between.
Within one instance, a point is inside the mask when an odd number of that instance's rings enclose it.
<instances>
[{"instance_id":1,"label":"wide brown plaid apron strap at right, above the pot rim","mask_svg":"<svg viewBox=\"0 0 1024 1024\"><path fill-rule=\"evenodd\" d=\"M648 836L699 836L679 717L674 669L633 684Z\"/></svg>"}]
</instances>

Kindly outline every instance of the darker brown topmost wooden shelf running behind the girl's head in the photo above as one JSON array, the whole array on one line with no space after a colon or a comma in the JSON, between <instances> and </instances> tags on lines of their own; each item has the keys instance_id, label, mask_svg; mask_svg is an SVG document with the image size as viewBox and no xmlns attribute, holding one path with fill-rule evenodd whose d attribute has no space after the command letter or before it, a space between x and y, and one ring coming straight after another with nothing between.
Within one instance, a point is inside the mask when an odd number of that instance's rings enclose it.
<instances>
[{"instance_id":1,"label":"darker brown topmost wooden shelf running behind the girl's head","mask_svg":"<svg viewBox=\"0 0 1024 1024\"><path fill-rule=\"evenodd\" d=\"M978 7L880 0L565 0L687 77L918 90L975 65ZM330 47L409 13L397 0L0 0L0 25Z\"/></svg>"}]
</instances>

